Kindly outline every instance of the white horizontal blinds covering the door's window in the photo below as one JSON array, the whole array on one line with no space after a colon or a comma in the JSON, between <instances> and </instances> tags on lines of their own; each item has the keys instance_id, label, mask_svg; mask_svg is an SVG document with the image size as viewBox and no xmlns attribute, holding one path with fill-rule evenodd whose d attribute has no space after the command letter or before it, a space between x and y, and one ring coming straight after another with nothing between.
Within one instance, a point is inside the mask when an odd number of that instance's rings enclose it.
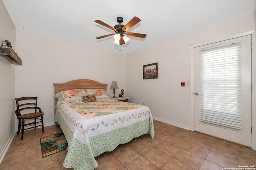
<instances>
[{"instance_id":1,"label":"white horizontal blinds covering the door's window","mask_svg":"<svg viewBox=\"0 0 256 170\"><path fill-rule=\"evenodd\" d=\"M242 129L242 42L199 49L199 121Z\"/></svg>"}]
</instances>

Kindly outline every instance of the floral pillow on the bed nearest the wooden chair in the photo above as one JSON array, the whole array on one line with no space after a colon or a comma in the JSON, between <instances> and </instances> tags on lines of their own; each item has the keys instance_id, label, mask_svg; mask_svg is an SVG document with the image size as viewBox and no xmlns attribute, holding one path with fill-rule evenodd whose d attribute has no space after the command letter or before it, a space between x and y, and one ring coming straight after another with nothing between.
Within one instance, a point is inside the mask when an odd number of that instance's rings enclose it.
<instances>
[{"instance_id":1,"label":"floral pillow on the bed nearest the wooden chair","mask_svg":"<svg viewBox=\"0 0 256 170\"><path fill-rule=\"evenodd\" d=\"M60 103L83 102L82 96L87 95L84 89L61 91L54 95Z\"/></svg>"}]
</instances>

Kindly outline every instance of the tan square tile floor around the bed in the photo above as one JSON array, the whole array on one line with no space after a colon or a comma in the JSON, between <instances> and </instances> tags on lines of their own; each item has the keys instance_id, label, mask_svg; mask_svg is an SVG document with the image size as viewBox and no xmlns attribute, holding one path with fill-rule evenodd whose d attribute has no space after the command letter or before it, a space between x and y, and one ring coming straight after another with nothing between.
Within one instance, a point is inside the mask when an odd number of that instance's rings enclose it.
<instances>
[{"instance_id":1,"label":"tan square tile floor around the bed","mask_svg":"<svg viewBox=\"0 0 256 170\"><path fill-rule=\"evenodd\" d=\"M199 132L154 120L155 138L148 134L120 144L96 157L96 170L223 170L256 165L256 151ZM0 170L64 170L67 150L42 158L40 138L62 130L58 125L15 135Z\"/></svg>"}]
</instances>

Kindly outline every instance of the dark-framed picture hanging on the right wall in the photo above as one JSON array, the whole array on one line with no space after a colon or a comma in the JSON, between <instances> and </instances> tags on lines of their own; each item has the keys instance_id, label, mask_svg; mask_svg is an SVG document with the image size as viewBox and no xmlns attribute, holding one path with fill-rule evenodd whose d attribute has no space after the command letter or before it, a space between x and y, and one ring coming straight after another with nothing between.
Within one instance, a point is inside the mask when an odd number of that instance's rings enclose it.
<instances>
[{"instance_id":1,"label":"dark-framed picture hanging on the right wall","mask_svg":"<svg viewBox=\"0 0 256 170\"><path fill-rule=\"evenodd\" d=\"M143 65L143 79L158 79L158 63Z\"/></svg>"}]
</instances>

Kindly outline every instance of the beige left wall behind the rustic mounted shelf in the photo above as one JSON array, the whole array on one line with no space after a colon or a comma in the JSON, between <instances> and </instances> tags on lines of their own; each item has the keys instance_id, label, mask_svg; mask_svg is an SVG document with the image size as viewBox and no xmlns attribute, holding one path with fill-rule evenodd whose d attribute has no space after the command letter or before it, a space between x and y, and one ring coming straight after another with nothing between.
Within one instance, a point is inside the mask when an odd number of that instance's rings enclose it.
<instances>
[{"instance_id":1,"label":"beige left wall behind the rustic mounted shelf","mask_svg":"<svg viewBox=\"0 0 256 170\"><path fill-rule=\"evenodd\" d=\"M15 49L15 31L4 3L0 0L0 45L4 40L9 40ZM0 57L0 162L14 132L14 83L15 66Z\"/></svg>"}]
</instances>

